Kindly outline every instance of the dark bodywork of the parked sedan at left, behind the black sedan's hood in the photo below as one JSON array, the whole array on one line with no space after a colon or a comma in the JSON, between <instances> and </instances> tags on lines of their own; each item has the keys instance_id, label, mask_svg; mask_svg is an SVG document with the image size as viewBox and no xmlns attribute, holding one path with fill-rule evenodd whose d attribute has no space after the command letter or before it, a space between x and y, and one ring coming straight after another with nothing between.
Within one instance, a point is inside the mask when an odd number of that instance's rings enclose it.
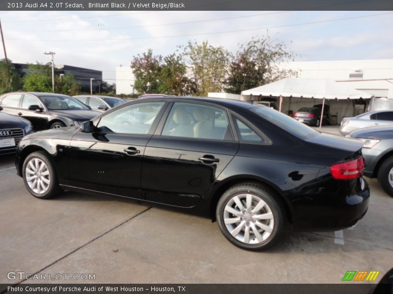
<instances>
[{"instance_id":1,"label":"dark bodywork of the parked sedan at left, behind the black sedan's hood","mask_svg":"<svg viewBox=\"0 0 393 294\"><path fill-rule=\"evenodd\" d=\"M49 110L39 98L40 95L56 95L51 93L35 93L35 92L16 92L7 93L0 97L0 104L3 98L10 94L21 94L22 98L19 101L18 107L2 106L3 112L10 115L15 115L27 119L34 127L35 131L46 130L55 122L62 122L66 126L74 125L74 121L84 122L93 119L100 112L92 110ZM43 107L42 110L29 110L22 108L24 95L29 95L37 98Z\"/></svg>"}]
</instances>

